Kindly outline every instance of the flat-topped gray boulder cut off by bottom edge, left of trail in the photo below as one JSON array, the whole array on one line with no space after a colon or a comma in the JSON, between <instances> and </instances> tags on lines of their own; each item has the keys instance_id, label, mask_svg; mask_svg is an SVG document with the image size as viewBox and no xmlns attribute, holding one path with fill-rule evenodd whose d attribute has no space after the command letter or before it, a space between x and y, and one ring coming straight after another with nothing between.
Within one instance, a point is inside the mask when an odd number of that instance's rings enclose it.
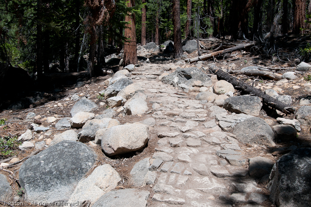
<instances>
[{"instance_id":1,"label":"flat-topped gray boulder cut off by bottom edge, left of trail","mask_svg":"<svg viewBox=\"0 0 311 207\"><path fill-rule=\"evenodd\" d=\"M114 190L102 195L92 207L146 207L149 195L147 190Z\"/></svg>"}]
</instances>

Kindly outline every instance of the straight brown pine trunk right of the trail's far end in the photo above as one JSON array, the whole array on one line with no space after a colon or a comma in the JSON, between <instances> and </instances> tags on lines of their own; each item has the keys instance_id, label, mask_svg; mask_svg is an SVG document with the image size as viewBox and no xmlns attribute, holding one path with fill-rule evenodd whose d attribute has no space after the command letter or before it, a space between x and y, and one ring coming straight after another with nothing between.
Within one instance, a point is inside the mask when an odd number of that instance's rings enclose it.
<instances>
[{"instance_id":1,"label":"straight brown pine trunk right of the trail's far end","mask_svg":"<svg viewBox=\"0 0 311 207\"><path fill-rule=\"evenodd\" d=\"M174 26L174 57L180 59L183 54L180 28L180 2L173 0L173 26Z\"/></svg>"}]
</instances>

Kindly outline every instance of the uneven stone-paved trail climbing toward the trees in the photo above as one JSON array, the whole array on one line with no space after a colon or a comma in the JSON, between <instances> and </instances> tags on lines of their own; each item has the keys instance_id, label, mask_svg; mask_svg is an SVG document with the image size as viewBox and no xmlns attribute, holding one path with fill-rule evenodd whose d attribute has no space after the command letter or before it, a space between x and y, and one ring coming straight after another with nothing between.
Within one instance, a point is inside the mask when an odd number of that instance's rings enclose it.
<instances>
[{"instance_id":1,"label":"uneven stone-paved trail climbing toward the trees","mask_svg":"<svg viewBox=\"0 0 311 207\"><path fill-rule=\"evenodd\" d=\"M218 207L266 200L244 167L248 159L239 152L235 135L218 126L216 117L225 122L226 110L163 84L158 80L163 72L155 64L132 72L134 83L141 85L153 104L150 112L160 137L147 166L156 172L148 206ZM251 117L238 117L237 122Z\"/></svg>"}]
</instances>

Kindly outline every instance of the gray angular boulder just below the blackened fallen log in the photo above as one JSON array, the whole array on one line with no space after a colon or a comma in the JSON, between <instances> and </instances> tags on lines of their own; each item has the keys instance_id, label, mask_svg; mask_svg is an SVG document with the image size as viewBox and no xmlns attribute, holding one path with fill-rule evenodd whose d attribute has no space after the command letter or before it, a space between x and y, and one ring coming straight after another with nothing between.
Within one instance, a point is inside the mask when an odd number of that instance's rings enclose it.
<instances>
[{"instance_id":1,"label":"gray angular boulder just below the blackened fallen log","mask_svg":"<svg viewBox=\"0 0 311 207\"><path fill-rule=\"evenodd\" d=\"M262 103L258 96L243 95L226 99L223 107L230 112L258 116Z\"/></svg>"}]
</instances>

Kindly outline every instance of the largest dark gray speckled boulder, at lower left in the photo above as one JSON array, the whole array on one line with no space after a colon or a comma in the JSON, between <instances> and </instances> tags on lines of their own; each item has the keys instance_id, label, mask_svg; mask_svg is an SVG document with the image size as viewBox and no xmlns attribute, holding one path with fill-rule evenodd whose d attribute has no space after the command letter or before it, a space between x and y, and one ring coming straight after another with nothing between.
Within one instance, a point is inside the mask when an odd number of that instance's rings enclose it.
<instances>
[{"instance_id":1,"label":"largest dark gray speckled boulder, at lower left","mask_svg":"<svg viewBox=\"0 0 311 207\"><path fill-rule=\"evenodd\" d=\"M26 199L38 203L67 202L96 159L90 147L75 141L59 142L31 156L19 170Z\"/></svg>"}]
</instances>

